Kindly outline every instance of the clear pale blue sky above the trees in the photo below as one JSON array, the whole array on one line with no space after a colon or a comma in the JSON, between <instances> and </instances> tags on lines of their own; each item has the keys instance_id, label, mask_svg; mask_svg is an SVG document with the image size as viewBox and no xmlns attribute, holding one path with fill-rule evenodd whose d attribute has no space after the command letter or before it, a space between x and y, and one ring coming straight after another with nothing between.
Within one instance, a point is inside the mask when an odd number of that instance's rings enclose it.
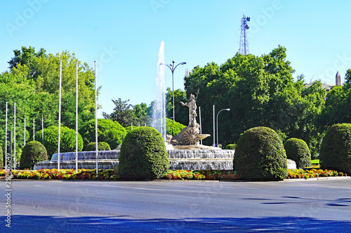
<instances>
[{"instance_id":1,"label":"clear pale blue sky above the trees","mask_svg":"<svg viewBox=\"0 0 351 233\"><path fill-rule=\"evenodd\" d=\"M351 68L350 1L28 0L1 6L0 72L21 46L69 51L91 67L96 60L99 117L113 111L112 99L150 104L161 41L167 63L187 62L174 73L175 88L182 90L186 68L232 58L243 14L251 17L250 53L285 46L294 77L334 84L336 71L343 78ZM171 88L169 69L165 78Z\"/></svg>"}]
</instances>

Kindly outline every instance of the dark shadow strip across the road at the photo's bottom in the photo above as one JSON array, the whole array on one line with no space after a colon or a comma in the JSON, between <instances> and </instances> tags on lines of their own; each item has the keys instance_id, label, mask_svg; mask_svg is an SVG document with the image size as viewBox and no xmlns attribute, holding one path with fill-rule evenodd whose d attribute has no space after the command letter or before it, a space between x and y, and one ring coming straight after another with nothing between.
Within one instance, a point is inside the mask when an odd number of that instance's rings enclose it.
<instances>
[{"instance_id":1,"label":"dark shadow strip across the road at the photo's bottom","mask_svg":"<svg viewBox=\"0 0 351 233\"><path fill-rule=\"evenodd\" d=\"M4 220L1 216L1 232L347 232L351 229L351 221L297 217L133 219L13 215L10 230Z\"/></svg>"}]
</instances>

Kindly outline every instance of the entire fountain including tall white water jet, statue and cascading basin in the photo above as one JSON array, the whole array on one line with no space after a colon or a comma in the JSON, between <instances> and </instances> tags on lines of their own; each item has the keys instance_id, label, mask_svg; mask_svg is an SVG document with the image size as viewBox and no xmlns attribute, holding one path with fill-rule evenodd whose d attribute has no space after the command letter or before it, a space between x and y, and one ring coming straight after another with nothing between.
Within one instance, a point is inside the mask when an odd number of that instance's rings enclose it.
<instances>
[{"instance_id":1,"label":"entire fountain including tall white water jet, statue and cascading basin","mask_svg":"<svg viewBox=\"0 0 351 233\"><path fill-rule=\"evenodd\" d=\"M164 41L161 41L157 61L157 79L154 112L152 114L152 127L161 133L166 143L168 152L169 169L171 170L232 170L234 150L220 149L199 145L199 140L209 136L209 134L199 134L199 124L197 124L197 105L194 95L190 95L190 101L183 106L189 107L189 125L171 140L166 140L166 98L164 81ZM78 152L78 168L96 168L96 152ZM60 153L60 168L74 169L76 153ZM114 169L119 164L119 150L99 151L98 168ZM51 161L42 161L34 165L34 170L51 169L58 167L58 154L53 154Z\"/></svg>"}]
</instances>

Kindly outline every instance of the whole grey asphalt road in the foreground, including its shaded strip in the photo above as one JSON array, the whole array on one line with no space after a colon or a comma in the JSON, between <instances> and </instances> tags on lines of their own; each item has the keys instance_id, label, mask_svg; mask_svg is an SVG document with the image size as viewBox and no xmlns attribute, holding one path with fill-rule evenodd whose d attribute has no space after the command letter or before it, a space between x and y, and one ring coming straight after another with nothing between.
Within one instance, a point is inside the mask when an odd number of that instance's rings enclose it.
<instances>
[{"instance_id":1,"label":"whole grey asphalt road in the foreground, including its shaded strip","mask_svg":"<svg viewBox=\"0 0 351 233\"><path fill-rule=\"evenodd\" d=\"M351 179L12 181L11 190L1 232L351 232Z\"/></svg>"}]
</instances>

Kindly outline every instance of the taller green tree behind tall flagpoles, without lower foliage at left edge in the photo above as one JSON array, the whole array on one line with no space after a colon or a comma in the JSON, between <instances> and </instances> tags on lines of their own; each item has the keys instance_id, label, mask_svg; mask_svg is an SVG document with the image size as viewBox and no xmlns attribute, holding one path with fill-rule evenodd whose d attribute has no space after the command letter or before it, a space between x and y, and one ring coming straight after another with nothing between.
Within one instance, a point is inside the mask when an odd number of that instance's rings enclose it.
<instances>
[{"instance_id":1,"label":"taller green tree behind tall flagpoles, without lower foliage at left edge","mask_svg":"<svg viewBox=\"0 0 351 233\"><path fill-rule=\"evenodd\" d=\"M22 47L15 50L15 57L8 62L11 65L11 75L30 87L37 100L32 101L37 116L44 116L47 126L58 121L58 93L60 76L60 60L62 60L62 125L75 127L75 93L76 93L76 62L78 62L78 95L79 122L93 119L95 112L95 87L93 69L86 63L80 62L68 51L49 53L41 49L35 53L34 48ZM99 88L100 90L100 88Z\"/></svg>"}]
</instances>

